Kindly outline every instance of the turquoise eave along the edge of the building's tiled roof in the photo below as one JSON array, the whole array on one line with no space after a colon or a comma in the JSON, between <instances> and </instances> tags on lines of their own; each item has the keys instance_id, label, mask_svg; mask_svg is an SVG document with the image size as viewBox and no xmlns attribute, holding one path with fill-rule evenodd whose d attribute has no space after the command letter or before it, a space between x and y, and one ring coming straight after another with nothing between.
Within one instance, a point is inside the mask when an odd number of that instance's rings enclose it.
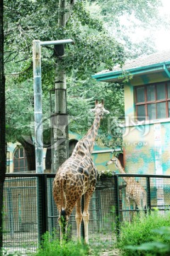
<instances>
[{"instance_id":1,"label":"turquoise eave along the edge of the building's tiled roof","mask_svg":"<svg viewBox=\"0 0 170 256\"><path fill-rule=\"evenodd\" d=\"M92 75L92 78L95 78L97 81L103 81L107 82L108 80L111 82L120 81L125 78L127 73L129 75L144 75L146 73L154 73L159 71L165 71L166 75L170 78L170 73L168 68L170 68L170 60L164 61L162 63L154 63L152 65L145 65L141 67L136 68L129 68L125 70L112 70L112 71L106 71L102 73L97 73L95 75ZM126 74L126 75L125 75Z\"/></svg>"}]
</instances>

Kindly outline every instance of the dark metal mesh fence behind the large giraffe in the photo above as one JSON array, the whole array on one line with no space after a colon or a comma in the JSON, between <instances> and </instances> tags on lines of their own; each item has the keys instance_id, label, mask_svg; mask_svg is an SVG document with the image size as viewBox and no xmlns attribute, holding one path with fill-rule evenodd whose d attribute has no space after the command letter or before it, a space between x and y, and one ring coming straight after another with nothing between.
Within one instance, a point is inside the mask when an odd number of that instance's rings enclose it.
<instances>
[{"instance_id":1,"label":"dark metal mesh fence behind the large giraffe","mask_svg":"<svg viewBox=\"0 0 170 256\"><path fill-rule=\"evenodd\" d=\"M58 213L52 197L54 177L55 174L6 174L3 244L8 252L35 252L47 230L60 238ZM91 244L102 241L111 245L119 232L120 223L132 220L141 210L132 197L128 202L128 183L125 182L128 177L135 181L130 185L133 196L139 196L140 188L144 189L145 210L169 210L170 176L115 174L111 178L101 177L89 209ZM77 238L74 215L75 210L69 218L69 236L72 240ZM84 236L83 225L81 235Z\"/></svg>"}]
</instances>

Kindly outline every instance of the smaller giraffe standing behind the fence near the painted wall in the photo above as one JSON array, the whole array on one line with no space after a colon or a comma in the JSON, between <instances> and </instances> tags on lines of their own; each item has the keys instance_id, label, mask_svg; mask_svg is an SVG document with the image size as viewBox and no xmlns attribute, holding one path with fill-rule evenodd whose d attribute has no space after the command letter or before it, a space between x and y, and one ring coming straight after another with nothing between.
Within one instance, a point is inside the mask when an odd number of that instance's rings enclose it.
<instances>
[{"instance_id":1,"label":"smaller giraffe standing behind the fence near the painted wall","mask_svg":"<svg viewBox=\"0 0 170 256\"><path fill-rule=\"evenodd\" d=\"M123 166L120 164L120 161L117 157L113 156L113 158L106 163L109 164L115 163L115 166L120 171L120 174L125 174L125 170ZM126 200L128 202L128 206L130 209L130 199L135 203L138 209L145 209L147 207L147 192L143 188L143 186L135 181L134 177L122 177L126 183L125 193Z\"/></svg>"}]
</instances>

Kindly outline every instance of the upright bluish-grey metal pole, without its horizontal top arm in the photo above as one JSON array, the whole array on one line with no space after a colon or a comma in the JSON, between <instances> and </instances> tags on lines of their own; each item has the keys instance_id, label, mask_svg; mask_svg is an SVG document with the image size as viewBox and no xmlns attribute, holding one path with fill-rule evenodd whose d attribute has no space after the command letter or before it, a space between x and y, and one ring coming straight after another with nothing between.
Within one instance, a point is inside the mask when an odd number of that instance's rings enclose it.
<instances>
[{"instance_id":1,"label":"upright bluish-grey metal pole, without its horizontal top arm","mask_svg":"<svg viewBox=\"0 0 170 256\"><path fill-rule=\"evenodd\" d=\"M33 41L33 83L34 83L34 118L35 118L35 168L36 173L43 173L42 142L42 86L40 40ZM37 178L37 222L38 241L42 235L42 177Z\"/></svg>"}]
</instances>

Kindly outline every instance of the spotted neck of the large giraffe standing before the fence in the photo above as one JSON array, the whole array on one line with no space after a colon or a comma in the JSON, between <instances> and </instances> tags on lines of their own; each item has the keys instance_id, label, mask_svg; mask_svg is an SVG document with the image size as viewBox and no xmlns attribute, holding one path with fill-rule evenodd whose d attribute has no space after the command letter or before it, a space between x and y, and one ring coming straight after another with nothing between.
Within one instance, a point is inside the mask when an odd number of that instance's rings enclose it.
<instances>
[{"instance_id":1,"label":"spotted neck of the large giraffe standing before the fence","mask_svg":"<svg viewBox=\"0 0 170 256\"><path fill-rule=\"evenodd\" d=\"M94 142L96 139L96 135L98 133L98 128L100 127L100 122L101 122L101 117L96 116L91 128L86 133L86 135L81 139L81 141L84 142L90 154L94 149Z\"/></svg>"}]
</instances>

